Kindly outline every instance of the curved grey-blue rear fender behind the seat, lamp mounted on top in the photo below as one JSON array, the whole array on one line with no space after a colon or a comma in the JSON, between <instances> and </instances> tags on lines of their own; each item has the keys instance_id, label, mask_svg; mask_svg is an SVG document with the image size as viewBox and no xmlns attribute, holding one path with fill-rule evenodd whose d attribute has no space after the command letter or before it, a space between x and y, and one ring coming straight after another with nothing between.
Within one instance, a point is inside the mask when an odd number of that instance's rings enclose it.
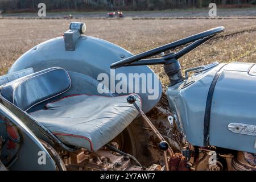
<instances>
[{"instance_id":1,"label":"curved grey-blue rear fender behind the seat, lamp mounted on top","mask_svg":"<svg viewBox=\"0 0 256 182\"><path fill-rule=\"evenodd\" d=\"M41 43L24 53L15 61L9 69L9 73L26 68L33 68L35 72L38 72L50 67L61 67L69 72L88 75L100 82L104 79L98 76L105 73L109 77L108 85L105 86L112 92L115 92L115 86L120 82L115 76L118 73L122 73L127 77L127 82L123 84L123 88L126 88L127 92L116 94L126 95L127 93L133 93L135 87L139 86L138 94L142 98L142 110L146 113L158 104L162 96L162 86L155 73L147 66L110 69L112 63L130 56L133 56L133 54L125 49L90 36L81 36L77 41L75 51L66 51L64 39L59 37ZM128 80L129 75L134 75L135 73L146 76L146 81L135 82L133 79L132 81ZM114 79L112 79L113 76ZM146 92L142 90L142 87L146 88ZM131 91L131 88L133 88L133 91ZM82 92L86 93L86 90Z\"/></svg>"}]
</instances>

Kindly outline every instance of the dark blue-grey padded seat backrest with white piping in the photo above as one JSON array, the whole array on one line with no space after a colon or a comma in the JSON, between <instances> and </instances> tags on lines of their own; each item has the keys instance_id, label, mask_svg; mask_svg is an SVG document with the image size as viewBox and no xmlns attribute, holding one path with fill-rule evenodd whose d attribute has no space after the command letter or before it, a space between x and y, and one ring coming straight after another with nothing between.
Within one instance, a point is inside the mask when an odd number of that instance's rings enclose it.
<instances>
[{"instance_id":1,"label":"dark blue-grey padded seat backrest with white piping","mask_svg":"<svg viewBox=\"0 0 256 182\"><path fill-rule=\"evenodd\" d=\"M33 73L1 86L6 100L26 111L32 106L59 96L71 88L71 78L63 68L54 67Z\"/></svg>"}]
</instances>

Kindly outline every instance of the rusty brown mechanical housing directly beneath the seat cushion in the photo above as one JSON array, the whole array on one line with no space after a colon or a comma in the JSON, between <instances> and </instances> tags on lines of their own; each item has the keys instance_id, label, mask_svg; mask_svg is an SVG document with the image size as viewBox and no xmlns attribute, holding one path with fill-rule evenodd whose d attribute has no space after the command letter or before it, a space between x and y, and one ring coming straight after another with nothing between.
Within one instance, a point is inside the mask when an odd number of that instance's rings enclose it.
<instances>
[{"instance_id":1,"label":"rusty brown mechanical housing directly beneath the seat cushion","mask_svg":"<svg viewBox=\"0 0 256 182\"><path fill-rule=\"evenodd\" d=\"M120 155L107 147L103 147L97 152L89 152L82 148L74 152L60 151L59 153L70 171L158 171L162 169L156 164L149 168L134 166L129 157Z\"/></svg>"}]
</instances>

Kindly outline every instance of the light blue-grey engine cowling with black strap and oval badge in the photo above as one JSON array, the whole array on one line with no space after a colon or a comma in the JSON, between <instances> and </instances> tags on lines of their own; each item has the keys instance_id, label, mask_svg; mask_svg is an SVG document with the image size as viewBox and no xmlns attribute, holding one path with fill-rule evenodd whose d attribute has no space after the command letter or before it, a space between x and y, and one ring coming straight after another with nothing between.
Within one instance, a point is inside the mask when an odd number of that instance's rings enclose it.
<instances>
[{"instance_id":1,"label":"light blue-grey engine cowling with black strap and oval badge","mask_svg":"<svg viewBox=\"0 0 256 182\"><path fill-rule=\"evenodd\" d=\"M255 64L216 64L168 88L168 100L189 143L256 153L255 90Z\"/></svg>"}]
</instances>

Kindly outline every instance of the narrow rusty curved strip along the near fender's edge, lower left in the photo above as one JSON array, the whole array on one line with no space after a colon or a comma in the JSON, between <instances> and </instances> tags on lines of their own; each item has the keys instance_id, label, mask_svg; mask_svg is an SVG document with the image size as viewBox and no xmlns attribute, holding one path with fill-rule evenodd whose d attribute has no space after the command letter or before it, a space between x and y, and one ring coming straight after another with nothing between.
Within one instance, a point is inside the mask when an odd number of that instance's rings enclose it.
<instances>
[{"instance_id":1,"label":"narrow rusty curved strip along the near fender's edge, lower left","mask_svg":"<svg viewBox=\"0 0 256 182\"><path fill-rule=\"evenodd\" d=\"M43 146L46 148L46 150L49 152L53 160L55 161L57 168L60 171L67 171L67 168L65 167L65 164L63 160L60 158L60 155L57 153L57 151L47 142L44 142L44 140L42 139L39 139L39 140L43 144Z\"/></svg>"}]
</instances>

